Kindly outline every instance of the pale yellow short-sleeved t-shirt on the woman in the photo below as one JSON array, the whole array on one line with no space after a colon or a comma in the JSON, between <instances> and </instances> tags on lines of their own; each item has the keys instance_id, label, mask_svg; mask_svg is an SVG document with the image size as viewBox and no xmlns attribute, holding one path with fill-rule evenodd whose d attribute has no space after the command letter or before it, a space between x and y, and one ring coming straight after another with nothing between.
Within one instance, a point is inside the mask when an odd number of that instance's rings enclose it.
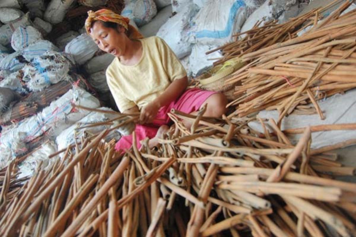
<instances>
[{"instance_id":1,"label":"pale yellow short-sleeved t-shirt on the woman","mask_svg":"<svg viewBox=\"0 0 356 237\"><path fill-rule=\"evenodd\" d=\"M142 56L136 65L115 58L106 69L106 80L121 112L152 102L176 79L187 75L177 56L159 37L140 39Z\"/></svg>"}]
</instances>

